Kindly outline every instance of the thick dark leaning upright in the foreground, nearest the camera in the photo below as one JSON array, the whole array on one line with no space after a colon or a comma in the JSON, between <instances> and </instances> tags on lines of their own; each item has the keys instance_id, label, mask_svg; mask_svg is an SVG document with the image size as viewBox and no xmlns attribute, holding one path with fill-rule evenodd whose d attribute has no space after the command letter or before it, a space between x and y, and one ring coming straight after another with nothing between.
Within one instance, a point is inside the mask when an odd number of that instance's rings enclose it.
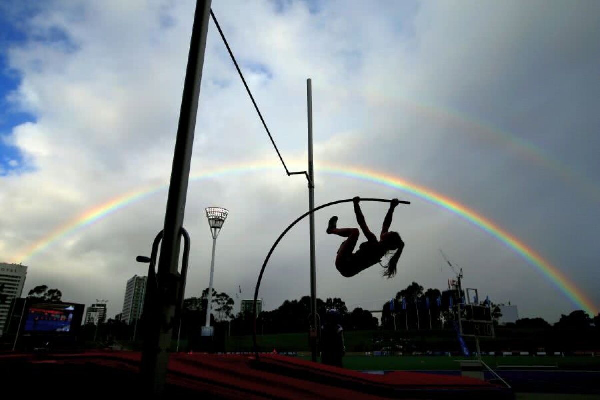
<instances>
[{"instance_id":1,"label":"thick dark leaning upright in the foreground, nearest the camera","mask_svg":"<svg viewBox=\"0 0 600 400\"><path fill-rule=\"evenodd\" d=\"M163 395L178 300L179 248L190 180L191 155L206 52L211 0L197 0L185 73L179 126L173 154L169 197L164 217L164 238L158 263L157 306L151 309L147 345L142 354L142 384L146 395Z\"/></svg>"}]
</instances>

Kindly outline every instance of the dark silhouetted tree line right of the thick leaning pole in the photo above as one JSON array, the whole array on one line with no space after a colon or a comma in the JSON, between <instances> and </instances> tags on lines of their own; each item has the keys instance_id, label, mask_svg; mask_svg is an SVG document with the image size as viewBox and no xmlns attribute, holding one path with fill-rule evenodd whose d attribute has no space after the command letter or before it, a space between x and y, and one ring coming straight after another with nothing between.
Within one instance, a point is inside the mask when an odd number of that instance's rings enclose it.
<instances>
[{"instance_id":1,"label":"dark silhouetted tree line right of the thick leaning pole","mask_svg":"<svg viewBox=\"0 0 600 400\"><path fill-rule=\"evenodd\" d=\"M208 288L203 292L202 299L208 294ZM344 300L340 298L317 299L317 313L325 315L327 309L336 309L342 315L341 325L344 330L440 330L452 329L449 321L452 320L450 306L454 303L464 302L465 293L458 291L440 291L436 288L424 290L422 285L412 282L390 300L382 303L381 324L373 314L362 308L350 311ZM196 302L200 299L196 299ZM491 317L497 326L502 317L500 306L503 304L491 302L489 299L469 299L491 307ZM186 300L187 302L188 300ZM271 335L278 333L307 332L310 324L310 296L299 300L285 300L278 308L272 311L263 311L257 316L257 333ZM253 332L253 315L251 312L238 312L234 314L235 302L226 293L214 291L212 309L215 324L227 324L227 333L230 335L250 335ZM188 317L192 317L190 311ZM197 310L200 314L203 309ZM206 314L203 314L205 321ZM197 318L197 317L195 317ZM191 321L190 321L191 322ZM185 323L185 320L184 320ZM600 329L600 314L590 317L585 311L577 310L569 315L562 315L555 324L550 324L543 318L521 318L516 323L507 323L506 328L517 329Z\"/></svg>"}]
</instances>

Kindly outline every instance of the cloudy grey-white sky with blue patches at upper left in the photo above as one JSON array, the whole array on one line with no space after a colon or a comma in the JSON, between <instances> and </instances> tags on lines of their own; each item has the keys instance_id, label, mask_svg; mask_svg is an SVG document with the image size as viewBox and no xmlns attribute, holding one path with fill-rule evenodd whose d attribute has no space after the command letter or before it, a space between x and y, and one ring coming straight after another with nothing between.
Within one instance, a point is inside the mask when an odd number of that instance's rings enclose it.
<instances>
[{"instance_id":1,"label":"cloudy grey-white sky with blue patches at upper left","mask_svg":"<svg viewBox=\"0 0 600 400\"><path fill-rule=\"evenodd\" d=\"M412 201L395 213L406 249L389 281L379 266L351 279L334 267L341 239L326 224L338 215L356 225L351 204L317 213L319 297L380 309L412 281L446 288L443 249L464 286L518 305L521 317L554 322L581 309L569 291L598 312L600 3L220 0L213 10L290 170L307 169L313 80L317 205ZM26 290L107 299L112 317L127 279L146 274L135 258L164 224L193 12L193 1L2 2L0 262L29 267ZM284 173L212 22L192 175L187 296L208 286L205 207L221 206L230 215L214 286L250 298L308 190ZM385 204L363 209L378 231ZM271 258L266 309L310 294L309 260L304 221Z\"/></svg>"}]
</instances>

